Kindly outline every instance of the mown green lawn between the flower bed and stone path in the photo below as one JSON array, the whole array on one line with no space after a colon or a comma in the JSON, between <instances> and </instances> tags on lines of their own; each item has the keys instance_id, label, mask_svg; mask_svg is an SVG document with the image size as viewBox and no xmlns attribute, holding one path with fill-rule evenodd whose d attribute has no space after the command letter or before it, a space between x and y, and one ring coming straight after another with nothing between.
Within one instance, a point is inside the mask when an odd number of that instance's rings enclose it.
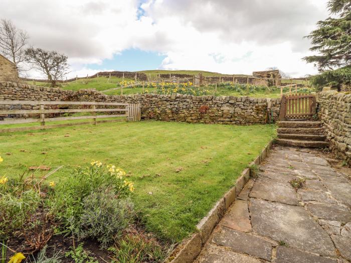
<instances>
[{"instance_id":1,"label":"mown green lawn between the flower bed and stone path","mask_svg":"<svg viewBox=\"0 0 351 263\"><path fill-rule=\"evenodd\" d=\"M92 159L116 164L134 182L132 198L147 230L180 241L274 134L270 125L157 121L6 133L0 134L0 174L14 177L30 166L65 165L50 177L63 183L73 168Z\"/></svg>"}]
</instances>

